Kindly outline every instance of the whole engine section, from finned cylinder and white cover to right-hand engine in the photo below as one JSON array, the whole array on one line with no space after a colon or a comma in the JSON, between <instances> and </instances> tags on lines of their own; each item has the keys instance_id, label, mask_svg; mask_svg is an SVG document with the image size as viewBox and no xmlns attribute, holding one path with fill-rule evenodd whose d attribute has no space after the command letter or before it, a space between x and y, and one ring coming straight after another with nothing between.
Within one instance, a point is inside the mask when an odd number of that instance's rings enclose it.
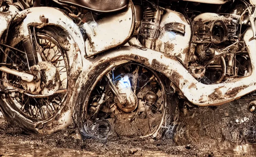
<instances>
[{"instance_id":1,"label":"whole engine section, from finned cylinder and white cover to right-hand engine","mask_svg":"<svg viewBox=\"0 0 256 157\"><path fill-rule=\"evenodd\" d=\"M232 2L225 5L223 8L228 5L230 8L222 10L222 5L206 3L159 1L158 5L146 1L140 41L146 48L176 57L202 83L249 76L250 55L241 32L242 26L248 27L241 24L246 6Z\"/></svg>"}]
</instances>

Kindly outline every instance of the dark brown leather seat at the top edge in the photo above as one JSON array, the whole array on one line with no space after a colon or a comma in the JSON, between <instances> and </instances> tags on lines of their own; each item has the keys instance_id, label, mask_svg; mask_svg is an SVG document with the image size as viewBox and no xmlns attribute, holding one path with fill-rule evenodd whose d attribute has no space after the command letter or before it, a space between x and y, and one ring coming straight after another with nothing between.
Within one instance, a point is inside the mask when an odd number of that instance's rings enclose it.
<instances>
[{"instance_id":1,"label":"dark brown leather seat at the top edge","mask_svg":"<svg viewBox=\"0 0 256 157\"><path fill-rule=\"evenodd\" d=\"M100 13L122 10L129 4L129 0L58 0L58 2Z\"/></svg>"}]
</instances>

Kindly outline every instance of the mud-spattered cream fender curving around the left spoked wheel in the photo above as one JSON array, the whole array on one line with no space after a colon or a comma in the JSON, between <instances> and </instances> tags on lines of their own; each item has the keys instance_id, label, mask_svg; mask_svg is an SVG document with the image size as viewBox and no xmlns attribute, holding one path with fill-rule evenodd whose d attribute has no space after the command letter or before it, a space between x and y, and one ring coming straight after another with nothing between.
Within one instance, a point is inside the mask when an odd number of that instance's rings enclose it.
<instances>
[{"instance_id":1,"label":"mud-spattered cream fender curving around the left spoked wheel","mask_svg":"<svg viewBox=\"0 0 256 157\"><path fill-rule=\"evenodd\" d=\"M73 103L72 90L77 80L79 73L83 68L83 59L85 58L85 44L82 34L78 26L73 20L68 17L64 12L56 8L51 7L34 7L18 12L13 19L12 29L12 40L8 43L10 46L18 44L24 37L30 36L30 27L36 27L43 29L45 26L53 26L61 30L67 36L69 41L68 45L62 45L66 47L66 55L69 64L69 80L68 80L68 91L66 99L63 102L62 109L52 119L43 121L40 123L44 124L44 128L39 132L54 132L61 128L66 128L72 123L71 113ZM84 67L86 68L86 67ZM48 123L51 121L51 123ZM36 127L38 124L35 124Z\"/></svg>"}]
</instances>

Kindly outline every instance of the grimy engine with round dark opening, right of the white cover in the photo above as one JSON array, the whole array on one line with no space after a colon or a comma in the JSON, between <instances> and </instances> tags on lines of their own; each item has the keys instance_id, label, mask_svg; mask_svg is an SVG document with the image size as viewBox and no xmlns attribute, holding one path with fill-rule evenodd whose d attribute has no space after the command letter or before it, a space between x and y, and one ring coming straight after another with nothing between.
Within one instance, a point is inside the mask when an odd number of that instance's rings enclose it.
<instances>
[{"instance_id":1,"label":"grimy engine with round dark opening, right of the white cover","mask_svg":"<svg viewBox=\"0 0 256 157\"><path fill-rule=\"evenodd\" d=\"M211 84L249 75L250 59L244 42L239 39L239 20L240 15L235 14L202 13L194 17L195 51L189 71L195 78L204 78L203 83Z\"/></svg>"}]
</instances>

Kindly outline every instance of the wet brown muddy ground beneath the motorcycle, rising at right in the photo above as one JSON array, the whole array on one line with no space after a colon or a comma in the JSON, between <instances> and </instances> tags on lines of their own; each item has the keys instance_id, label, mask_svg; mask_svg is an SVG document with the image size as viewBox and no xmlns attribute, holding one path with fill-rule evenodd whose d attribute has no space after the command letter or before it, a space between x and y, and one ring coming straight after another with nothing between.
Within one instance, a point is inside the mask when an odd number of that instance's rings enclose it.
<instances>
[{"instance_id":1,"label":"wet brown muddy ground beneath the motorcycle, rising at right","mask_svg":"<svg viewBox=\"0 0 256 157\"><path fill-rule=\"evenodd\" d=\"M179 120L164 139L78 140L74 129L34 135L0 114L0 156L256 156L256 115L245 98L218 107L179 105ZM173 134L174 133L174 136Z\"/></svg>"}]
</instances>

